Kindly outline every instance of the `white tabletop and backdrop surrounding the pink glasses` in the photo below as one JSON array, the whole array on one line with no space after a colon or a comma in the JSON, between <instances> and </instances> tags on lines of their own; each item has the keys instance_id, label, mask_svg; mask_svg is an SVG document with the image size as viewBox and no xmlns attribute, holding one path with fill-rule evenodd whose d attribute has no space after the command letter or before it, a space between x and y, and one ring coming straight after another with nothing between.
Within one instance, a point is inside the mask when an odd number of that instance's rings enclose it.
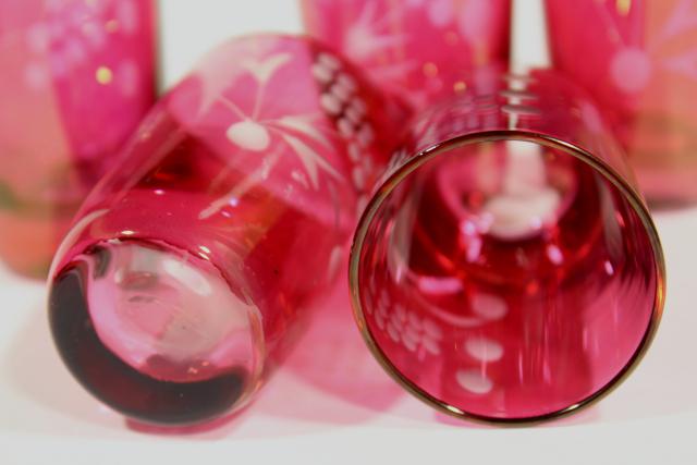
<instances>
[{"instance_id":1,"label":"white tabletop and backdrop surrounding the pink glasses","mask_svg":"<svg viewBox=\"0 0 697 465\"><path fill-rule=\"evenodd\" d=\"M292 0L162 3L168 83L227 36L299 27ZM535 2L518 3L524 44L516 57L538 63ZM44 286L0 269L0 463L697 463L697 209L656 217L668 257L668 305L645 362L596 407L534 428L436 415L382 374L348 308L338 308L322 317L335 318L337 332L310 332L240 417L195 435L137 432L60 364Z\"/></svg>"}]
</instances>

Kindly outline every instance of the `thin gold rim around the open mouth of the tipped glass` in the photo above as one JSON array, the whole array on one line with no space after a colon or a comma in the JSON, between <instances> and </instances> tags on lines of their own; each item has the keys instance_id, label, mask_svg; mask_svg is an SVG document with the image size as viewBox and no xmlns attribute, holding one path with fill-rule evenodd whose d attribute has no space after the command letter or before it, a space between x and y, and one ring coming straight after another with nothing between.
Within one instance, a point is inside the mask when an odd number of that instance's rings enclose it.
<instances>
[{"instance_id":1,"label":"thin gold rim around the open mouth of the tipped glass","mask_svg":"<svg viewBox=\"0 0 697 465\"><path fill-rule=\"evenodd\" d=\"M360 257L360 252L363 249L363 245L367 235L368 227L372 222L376 212L378 211L384 199L392 193L392 191L394 191L394 188L413 171L417 170L420 166L425 164L439 155L444 155L453 148L462 147L464 145L498 140L524 140L562 150L563 152L587 163L594 170L599 172L603 178L610 181L610 183L612 183L612 185L614 185L622 193L623 197L628 200L629 205L641 220L644 229L649 236L651 248L653 250L653 264L656 267L655 271L657 276L656 294L651 318L638 347L636 348L629 360L626 363L626 365L607 384L604 384L598 391L594 392L588 397L575 404L568 405L567 407L564 407L562 409L531 417L498 418L468 413L458 407L455 407L454 405L450 405L449 403L443 402L440 399L435 397L433 395L416 386L413 381L411 381L400 372L400 370L390 362L390 359L384 355L382 350L374 340L372 334L370 333L366 325L365 316L363 314L363 306L360 304L360 298L358 295L358 258ZM360 218L358 228L354 235L354 241L351 248L351 259L348 264L348 286L351 292L351 303L353 307L354 318L356 320L356 323L358 325L358 329L360 330L363 339L368 345L368 348L380 363L382 368L388 372L388 375L390 375L396 382L402 384L402 387L406 389L411 394L416 396L421 402L425 402L426 404L436 408L437 411L460 419L496 425L529 425L561 418L595 404L606 395L610 394L634 371L634 369L638 366L639 362L644 358L646 352L651 345L653 338L656 336L661 316L663 314L663 304L665 301L665 261L656 225L653 224L651 216L649 215L648 208L646 207L646 204L644 203L641 196L623 178L617 175L615 171L610 168L604 161L597 159L580 147L545 134L519 130L487 131L456 137L421 150L415 157L411 158L406 163L400 167L394 173L392 173L392 175L390 175L390 178L384 181L380 188L376 191L376 195L370 199L370 203L366 207L366 210Z\"/></svg>"}]
</instances>

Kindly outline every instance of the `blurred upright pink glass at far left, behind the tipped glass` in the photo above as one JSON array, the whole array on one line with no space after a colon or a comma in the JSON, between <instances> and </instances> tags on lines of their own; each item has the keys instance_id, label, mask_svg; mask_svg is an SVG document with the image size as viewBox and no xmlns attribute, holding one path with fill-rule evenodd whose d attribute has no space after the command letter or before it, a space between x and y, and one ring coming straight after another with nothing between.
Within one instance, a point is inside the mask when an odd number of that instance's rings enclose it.
<instances>
[{"instance_id":1,"label":"blurred upright pink glass at far left, behind the tipped glass","mask_svg":"<svg viewBox=\"0 0 697 465\"><path fill-rule=\"evenodd\" d=\"M0 2L0 256L45 277L155 101L150 0Z\"/></svg>"}]
</instances>

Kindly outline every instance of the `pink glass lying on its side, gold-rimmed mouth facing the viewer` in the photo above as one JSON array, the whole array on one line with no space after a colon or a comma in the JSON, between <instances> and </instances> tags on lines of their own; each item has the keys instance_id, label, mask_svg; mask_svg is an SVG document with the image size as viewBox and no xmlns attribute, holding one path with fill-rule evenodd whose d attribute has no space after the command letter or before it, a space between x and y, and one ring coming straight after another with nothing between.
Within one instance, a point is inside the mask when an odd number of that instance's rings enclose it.
<instances>
[{"instance_id":1,"label":"pink glass lying on its side, gold-rimmed mouth facing the viewer","mask_svg":"<svg viewBox=\"0 0 697 465\"><path fill-rule=\"evenodd\" d=\"M354 238L354 309L378 360L432 406L552 418L646 351L661 246L582 90L549 71L486 87L409 125Z\"/></svg>"}]
</instances>

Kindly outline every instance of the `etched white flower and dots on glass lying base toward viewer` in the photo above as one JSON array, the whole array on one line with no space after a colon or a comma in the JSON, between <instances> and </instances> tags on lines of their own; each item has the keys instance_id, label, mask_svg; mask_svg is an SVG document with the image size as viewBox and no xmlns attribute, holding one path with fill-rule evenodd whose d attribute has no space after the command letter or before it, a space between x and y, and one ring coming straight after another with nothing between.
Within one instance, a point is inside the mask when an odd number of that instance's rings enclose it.
<instances>
[{"instance_id":1,"label":"etched white flower and dots on glass lying base toward viewer","mask_svg":"<svg viewBox=\"0 0 697 465\"><path fill-rule=\"evenodd\" d=\"M387 160L382 147L391 147L387 136L378 139L375 127L399 124L382 114L403 110L396 105L390 110L391 102L319 44L299 47L264 36L213 54L185 83L191 91L175 94L171 105L215 151L230 158L211 192L230 173L243 179L216 194L200 218L221 212L266 182L274 195L311 208L321 221L353 225ZM298 83L292 94L289 82Z\"/></svg>"}]
</instances>

